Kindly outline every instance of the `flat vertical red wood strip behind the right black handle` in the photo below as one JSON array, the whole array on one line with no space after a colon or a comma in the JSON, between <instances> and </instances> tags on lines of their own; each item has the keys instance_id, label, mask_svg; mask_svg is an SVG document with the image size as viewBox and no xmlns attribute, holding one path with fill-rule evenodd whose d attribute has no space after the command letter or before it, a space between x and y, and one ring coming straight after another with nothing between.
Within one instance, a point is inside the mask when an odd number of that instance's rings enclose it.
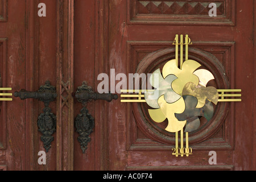
<instances>
[{"instance_id":1,"label":"flat vertical red wood strip behind the right black handle","mask_svg":"<svg viewBox=\"0 0 256 182\"><path fill-rule=\"evenodd\" d=\"M76 88L82 85L82 82L86 81L88 86L92 86L95 90L95 77L94 77L94 68L97 63L96 59L96 2L93 1L76 1L75 2L75 67L74 67L74 86ZM82 154L80 143L77 141L79 134L76 132L74 134L74 165L75 170L93 170L100 169L100 152L101 150L95 150L100 148L102 137L101 131L102 128L100 125L103 123L100 114L96 114L98 111L101 113L100 107L97 102L88 103L87 109L90 114L95 116L95 120L99 121L95 123L94 133L90 135L91 142L88 144L88 148L85 151L85 154ZM99 109L96 110L96 105ZM75 112L74 116L76 117L80 114L82 105L80 102L75 100ZM98 117L97 117L98 115ZM99 131L98 133L96 131Z\"/></svg>"}]
</instances>

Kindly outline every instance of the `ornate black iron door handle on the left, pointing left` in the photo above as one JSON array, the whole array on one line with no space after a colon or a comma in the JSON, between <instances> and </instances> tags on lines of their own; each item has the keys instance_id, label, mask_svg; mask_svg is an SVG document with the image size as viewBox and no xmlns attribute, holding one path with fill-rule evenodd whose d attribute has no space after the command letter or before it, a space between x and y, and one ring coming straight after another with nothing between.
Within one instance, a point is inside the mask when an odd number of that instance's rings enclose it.
<instances>
[{"instance_id":1,"label":"ornate black iron door handle on the left, pointing left","mask_svg":"<svg viewBox=\"0 0 256 182\"><path fill-rule=\"evenodd\" d=\"M27 90L20 90L20 92L14 93L15 97L19 97L21 100L27 98L36 98L44 102L43 113L38 117L39 131L42 133L41 140L44 143L46 152L51 148L51 142L53 141L52 134L56 131L56 115L51 113L49 102L52 102L57 97L56 88L50 84L47 80L46 84L40 86L36 92L29 92Z\"/></svg>"}]
</instances>

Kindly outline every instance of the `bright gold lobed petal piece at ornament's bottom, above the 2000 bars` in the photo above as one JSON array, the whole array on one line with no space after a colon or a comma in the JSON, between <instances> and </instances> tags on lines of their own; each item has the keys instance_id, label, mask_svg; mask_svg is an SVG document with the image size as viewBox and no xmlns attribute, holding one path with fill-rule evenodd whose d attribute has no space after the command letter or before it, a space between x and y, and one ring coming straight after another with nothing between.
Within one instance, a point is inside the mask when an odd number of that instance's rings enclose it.
<instances>
[{"instance_id":1,"label":"bright gold lobed petal piece at ornament's bottom, above the 2000 bars","mask_svg":"<svg viewBox=\"0 0 256 182\"><path fill-rule=\"evenodd\" d=\"M158 104L160 106L160 110L168 119L168 126L166 127L166 131L175 133L183 129L186 121L178 121L175 117L175 113L183 113L185 110L185 102L183 97L181 97L176 102L169 104L164 100L164 96L161 96L158 100Z\"/></svg>"}]
</instances>

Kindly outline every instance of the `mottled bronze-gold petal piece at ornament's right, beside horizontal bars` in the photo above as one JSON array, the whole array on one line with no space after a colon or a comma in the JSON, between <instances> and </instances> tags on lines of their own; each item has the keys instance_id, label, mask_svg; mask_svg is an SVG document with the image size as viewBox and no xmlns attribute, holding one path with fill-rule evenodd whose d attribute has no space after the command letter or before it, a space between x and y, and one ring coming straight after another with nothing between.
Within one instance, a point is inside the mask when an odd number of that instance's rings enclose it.
<instances>
[{"instance_id":1,"label":"mottled bronze-gold petal piece at ornament's right, beside horizontal bars","mask_svg":"<svg viewBox=\"0 0 256 182\"><path fill-rule=\"evenodd\" d=\"M205 100L209 100L214 104L218 102L218 90L213 86L197 87L193 82L188 82L183 89L183 96L194 96L197 98L196 108L201 108L205 105Z\"/></svg>"}]
</instances>

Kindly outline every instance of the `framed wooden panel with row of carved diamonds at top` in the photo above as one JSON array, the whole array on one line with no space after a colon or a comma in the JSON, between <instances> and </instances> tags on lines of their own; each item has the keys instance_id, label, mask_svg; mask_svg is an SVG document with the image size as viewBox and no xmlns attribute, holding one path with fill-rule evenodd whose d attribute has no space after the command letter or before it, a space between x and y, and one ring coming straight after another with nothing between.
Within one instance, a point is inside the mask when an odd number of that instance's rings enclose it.
<instances>
[{"instance_id":1,"label":"framed wooden panel with row of carved diamonds at top","mask_svg":"<svg viewBox=\"0 0 256 182\"><path fill-rule=\"evenodd\" d=\"M174 24L203 26L235 26L236 1L154 1L127 0L127 22L131 24ZM217 16L209 16L210 3L215 3Z\"/></svg>"}]
</instances>

